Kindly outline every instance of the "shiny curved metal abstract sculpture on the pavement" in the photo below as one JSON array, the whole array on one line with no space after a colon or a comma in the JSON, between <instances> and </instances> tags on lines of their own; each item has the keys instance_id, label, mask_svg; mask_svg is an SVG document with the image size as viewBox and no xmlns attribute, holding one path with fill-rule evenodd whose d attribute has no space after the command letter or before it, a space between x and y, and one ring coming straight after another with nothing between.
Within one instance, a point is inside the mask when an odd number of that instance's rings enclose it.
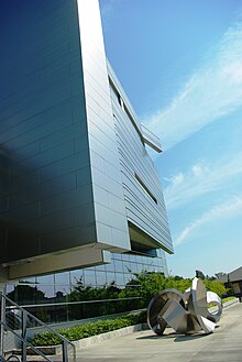
<instances>
[{"instance_id":1,"label":"shiny curved metal abstract sculpture on the pavement","mask_svg":"<svg viewBox=\"0 0 242 362\"><path fill-rule=\"evenodd\" d=\"M216 314L208 310L208 303L218 306ZM202 282L195 277L191 288L184 294L176 289L165 289L154 296L147 307L147 323L156 334L163 334L166 327L185 334L199 331L211 333L221 314L220 297L213 292L207 292Z\"/></svg>"}]
</instances>

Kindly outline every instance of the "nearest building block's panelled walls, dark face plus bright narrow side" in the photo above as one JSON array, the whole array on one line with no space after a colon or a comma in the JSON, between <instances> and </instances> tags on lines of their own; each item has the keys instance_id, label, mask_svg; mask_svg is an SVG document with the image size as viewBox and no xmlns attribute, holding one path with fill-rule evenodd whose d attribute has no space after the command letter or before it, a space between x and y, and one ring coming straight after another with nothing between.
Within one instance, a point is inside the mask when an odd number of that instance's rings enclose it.
<instances>
[{"instance_id":1,"label":"nearest building block's panelled walls, dark face plus bright narrow side","mask_svg":"<svg viewBox=\"0 0 242 362\"><path fill-rule=\"evenodd\" d=\"M98 1L1 1L0 14L0 263L129 248Z\"/></svg>"}]
</instances>

